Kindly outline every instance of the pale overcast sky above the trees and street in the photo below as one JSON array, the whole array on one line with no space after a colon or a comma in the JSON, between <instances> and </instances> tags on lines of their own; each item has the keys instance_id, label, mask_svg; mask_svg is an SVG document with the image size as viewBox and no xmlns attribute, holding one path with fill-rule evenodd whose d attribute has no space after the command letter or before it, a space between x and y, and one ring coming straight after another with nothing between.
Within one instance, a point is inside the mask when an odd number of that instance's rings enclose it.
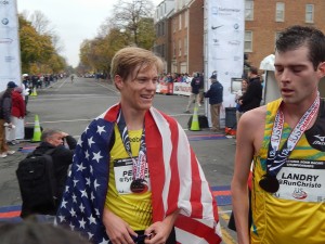
<instances>
[{"instance_id":1,"label":"pale overcast sky above the trees and street","mask_svg":"<svg viewBox=\"0 0 325 244\"><path fill-rule=\"evenodd\" d=\"M152 0L155 5L162 0ZM100 26L110 16L117 0L17 0L18 13L41 11L61 38L61 53L68 64L79 63L82 40L93 39Z\"/></svg>"}]
</instances>

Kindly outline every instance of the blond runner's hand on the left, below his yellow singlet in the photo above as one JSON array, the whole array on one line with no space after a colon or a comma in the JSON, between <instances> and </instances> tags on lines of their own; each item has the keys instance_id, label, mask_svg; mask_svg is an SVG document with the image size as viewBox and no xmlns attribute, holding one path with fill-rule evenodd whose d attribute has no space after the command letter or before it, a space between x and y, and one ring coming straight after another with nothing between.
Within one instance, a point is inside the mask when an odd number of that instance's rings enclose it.
<instances>
[{"instance_id":1,"label":"blond runner's hand on the left, below his yellow singlet","mask_svg":"<svg viewBox=\"0 0 325 244\"><path fill-rule=\"evenodd\" d=\"M125 220L113 214L106 207L103 213L103 223L113 244L134 244L131 235L138 236L138 234Z\"/></svg>"}]
</instances>

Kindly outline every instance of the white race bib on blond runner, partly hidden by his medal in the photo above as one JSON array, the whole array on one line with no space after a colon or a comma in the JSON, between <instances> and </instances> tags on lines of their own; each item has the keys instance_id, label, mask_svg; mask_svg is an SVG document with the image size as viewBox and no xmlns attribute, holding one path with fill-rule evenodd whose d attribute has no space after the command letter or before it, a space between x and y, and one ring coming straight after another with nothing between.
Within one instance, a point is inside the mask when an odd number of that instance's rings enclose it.
<instances>
[{"instance_id":1,"label":"white race bib on blond runner, partly hidden by his medal","mask_svg":"<svg viewBox=\"0 0 325 244\"><path fill-rule=\"evenodd\" d=\"M131 157L114 160L115 187L119 194L132 193L130 190L131 183L133 181L132 166L133 163ZM151 191L151 181L147 164L145 165L144 180L147 183L147 191Z\"/></svg>"}]
</instances>

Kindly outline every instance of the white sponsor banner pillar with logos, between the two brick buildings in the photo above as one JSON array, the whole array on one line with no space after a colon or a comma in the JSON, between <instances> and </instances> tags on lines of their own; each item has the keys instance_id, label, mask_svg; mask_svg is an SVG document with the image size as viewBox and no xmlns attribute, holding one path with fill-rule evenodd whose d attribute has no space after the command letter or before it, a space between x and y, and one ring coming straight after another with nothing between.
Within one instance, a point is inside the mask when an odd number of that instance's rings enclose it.
<instances>
[{"instance_id":1,"label":"white sponsor banner pillar with logos, between the two brick buildings","mask_svg":"<svg viewBox=\"0 0 325 244\"><path fill-rule=\"evenodd\" d=\"M235 106L233 80L240 78L244 68L245 36L244 0L205 1L205 74L218 73L223 86L223 107ZM206 80L206 89L210 84ZM207 110L209 111L209 110ZM221 112L224 123L224 108ZM208 115L209 117L209 115Z\"/></svg>"}]
</instances>

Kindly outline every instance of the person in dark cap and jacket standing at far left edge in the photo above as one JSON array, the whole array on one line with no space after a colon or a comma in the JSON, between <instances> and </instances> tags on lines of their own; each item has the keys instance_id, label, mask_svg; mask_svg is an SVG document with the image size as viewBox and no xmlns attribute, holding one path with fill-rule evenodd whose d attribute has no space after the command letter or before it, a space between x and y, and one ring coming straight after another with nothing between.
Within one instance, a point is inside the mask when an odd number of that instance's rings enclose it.
<instances>
[{"instance_id":1,"label":"person in dark cap and jacket standing at far left edge","mask_svg":"<svg viewBox=\"0 0 325 244\"><path fill-rule=\"evenodd\" d=\"M0 93L0 158L14 154L15 151L9 150L5 141L5 127L12 128L10 120L12 106L12 91L17 85L9 81L6 89Z\"/></svg>"}]
</instances>

